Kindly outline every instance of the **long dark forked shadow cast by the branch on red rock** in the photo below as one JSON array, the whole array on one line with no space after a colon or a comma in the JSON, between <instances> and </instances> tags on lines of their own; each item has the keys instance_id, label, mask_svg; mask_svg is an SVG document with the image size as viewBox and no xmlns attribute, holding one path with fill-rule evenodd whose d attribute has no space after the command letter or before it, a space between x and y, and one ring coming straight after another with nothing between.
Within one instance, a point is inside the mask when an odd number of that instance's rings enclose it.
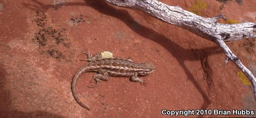
<instances>
[{"instance_id":1,"label":"long dark forked shadow cast by the branch on red rock","mask_svg":"<svg viewBox=\"0 0 256 118\"><path fill-rule=\"evenodd\" d=\"M139 24L137 21L135 21L132 18L132 16L128 13L128 11L116 9L115 7L112 7L111 5L107 4L105 0L85 0L85 3L81 3L81 2L64 3L60 5L55 5L55 6L41 4L37 0L33 0L33 1L37 5L32 5L32 4L23 4L23 5L31 10L40 10L40 11L47 11L49 8L58 9L60 6L63 6L63 5L64 6L89 6L94 10L100 12L101 14L118 18L140 36L143 36L144 38L147 38L147 39L151 39L152 41L163 46L166 50L169 51L170 54L173 55L173 57L176 58L176 60L181 65L181 67L184 69L184 72L187 75L188 80L190 80L193 83L193 85L196 87L196 89L200 92L201 96L203 97L203 105L201 106L201 109L207 109L209 104L211 104L211 100L209 99L207 93L203 91L203 89L201 88L197 80L193 77L192 73L185 66L184 61L202 61L204 60L204 58L206 58L209 55L222 53L222 51L219 49L218 46L207 47L203 49L184 49L182 46L173 42L171 39L168 39L166 36L154 31L153 29L150 29L146 26ZM207 75L207 76L210 76L210 75ZM211 78L207 78L206 81L211 82L212 80Z\"/></svg>"}]
</instances>

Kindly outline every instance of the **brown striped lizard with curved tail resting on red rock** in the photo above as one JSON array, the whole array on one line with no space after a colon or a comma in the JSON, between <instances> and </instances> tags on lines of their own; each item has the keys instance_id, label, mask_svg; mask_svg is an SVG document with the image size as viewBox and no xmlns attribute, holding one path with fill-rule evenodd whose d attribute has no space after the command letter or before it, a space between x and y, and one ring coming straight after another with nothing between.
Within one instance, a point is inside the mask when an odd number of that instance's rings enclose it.
<instances>
[{"instance_id":1,"label":"brown striped lizard with curved tail resting on red rock","mask_svg":"<svg viewBox=\"0 0 256 118\"><path fill-rule=\"evenodd\" d=\"M76 100L76 102L82 107L90 110L90 108L83 104L82 101L78 98L77 93L75 91L75 84L80 75L85 72L98 72L98 74L94 75L91 79L96 81L95 85L88 86L89 88L96 87L99 85L101 80L107 81L109 80L109 75L111 76L122 76L122 77L130 77L130 80L133 82L140 82L144 86L147 85L145 80L138 78L138 75L147 75L151 72L154 72L155 66L154 64L148 63L134 63L130 59L124 58L115 58L115 57L107 57L103 58L102 54L95 54L92 56L89 51L86 51L84 54L87 54L87 59L84 61L88 61L87 64L84 64L74 75L72 79L72 94Z\"/></svg>"}]
</instances>

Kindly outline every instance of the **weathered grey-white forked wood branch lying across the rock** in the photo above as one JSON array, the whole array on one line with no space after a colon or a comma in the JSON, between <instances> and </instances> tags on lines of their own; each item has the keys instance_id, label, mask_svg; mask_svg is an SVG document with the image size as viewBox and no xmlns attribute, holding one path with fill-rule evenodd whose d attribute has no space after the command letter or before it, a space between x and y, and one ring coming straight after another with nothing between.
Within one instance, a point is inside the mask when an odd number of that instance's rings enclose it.
<instances>
[{"instance_id":1,"label":"weathered grey-white forked wood branch lying across the rock","mask_svg":"<svg viewBox=\"0 0 256 118\"><path fill-rule=\"evenodd\" d=\"M214 18L203 18L189 11L183 10L178 6L169 6L157 0L106 0L110 4L121 7L130 7L146 12L162 21L172 25L179 26L195 33L205 39L214 41L226 54L227 63L233 61L238 68L248 77L254 88L254 97L256 98L256 78L237 58L225 41L241 40L242 38L255 38L256 24L252 22L240 24L220 24L218 18L226 19L222 15Z\"/></svg>"}]
</instances>

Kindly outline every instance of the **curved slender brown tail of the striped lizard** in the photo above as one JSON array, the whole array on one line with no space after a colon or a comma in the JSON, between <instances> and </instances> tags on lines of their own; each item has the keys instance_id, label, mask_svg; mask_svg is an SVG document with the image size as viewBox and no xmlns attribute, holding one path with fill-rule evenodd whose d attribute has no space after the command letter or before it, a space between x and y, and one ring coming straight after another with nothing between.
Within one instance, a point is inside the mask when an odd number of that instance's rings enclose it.
<instances>
[{"instance_id":1,"label":"curved slender brown tail of the striped lizard","mask_svg":"<svg viewBox=\"0 0 256 118\"><path fill-rule=\"evenodd\" d=\"M73 77L73 80L72 80L71 89L72 89L72 94L73 94L73 96L74 96L74 98L75 98L75 101L76 101L79 105L81 105L82 107L86 108L87 110L90 110L90 108L89 108L87 105L83 104L82 101L78 98L77 93L76 93L76 91L75 91L75 83L76 83L76 81L77 81L79 75L83 74L84 72L86 72L86 70L85 70L84 67L82 67L82 68L79 69L79 71L77 71L77 72L75 73L75 75L74 75L74 77Z\"/></svg>"}]
</instances>

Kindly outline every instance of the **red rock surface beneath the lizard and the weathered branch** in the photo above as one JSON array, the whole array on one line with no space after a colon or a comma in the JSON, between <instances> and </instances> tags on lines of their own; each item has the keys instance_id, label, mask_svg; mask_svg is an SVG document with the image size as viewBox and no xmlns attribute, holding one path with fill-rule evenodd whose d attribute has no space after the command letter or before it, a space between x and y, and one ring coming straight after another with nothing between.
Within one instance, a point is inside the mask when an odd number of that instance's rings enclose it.
<instances>
[{"instance_id":1,"label":"red rock surface beneath the lizard and the weathered branch","mask_svg":"<svg viewBox=\"0 0 256 118\"><path fill-rule=\"evenodd\" d=\"M196 0L160 1L196 8ZM203 17L224 14L255 22L256 0L219 1L203 0L207 7L196 10ZM0 118L152 118L162 117L162 109L256 112L252 86L242 84L232 62L224 64L226 56L215 43L141 11L104 0L0 0L0 32ZM227 45L256 75L255 39ZM107 50L157 69L143 77L146 87L111 77L87 88L95 73L83 74L76 88L87 111L71 93L72 77L86 63L79 61L85 50Z\"/></svg>"}]
</instances>

